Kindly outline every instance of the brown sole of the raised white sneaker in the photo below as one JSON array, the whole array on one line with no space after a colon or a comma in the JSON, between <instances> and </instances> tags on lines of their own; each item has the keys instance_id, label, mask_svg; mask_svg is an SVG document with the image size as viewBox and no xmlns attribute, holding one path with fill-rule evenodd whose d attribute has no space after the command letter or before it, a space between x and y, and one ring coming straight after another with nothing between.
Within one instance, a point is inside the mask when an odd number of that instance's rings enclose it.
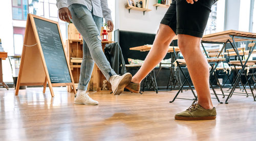
<instances>
[{"instance_id":1,"label":"brown sole of the raised white sneaker","mask_svg":"<svg viewBox=\"0 0 256 141\"><path fill-rule=\"evenodd\" d=\"M124 88L131 82L132 74L128 73L122 76L123 78L120 80L114 95L120 95L123 93Z\"/></svg>"}]
</instances>

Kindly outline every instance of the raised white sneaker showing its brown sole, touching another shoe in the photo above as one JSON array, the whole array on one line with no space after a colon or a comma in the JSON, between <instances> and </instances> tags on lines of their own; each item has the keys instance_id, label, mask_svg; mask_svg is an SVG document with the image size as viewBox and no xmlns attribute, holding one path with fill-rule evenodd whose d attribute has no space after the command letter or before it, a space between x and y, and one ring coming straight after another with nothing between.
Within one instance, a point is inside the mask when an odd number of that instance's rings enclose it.
<instances>
[{"instance_id":1,"label":"raised white sneaker showing its brown sole, touching another shoe","mask_svg":"<svg viewBox=\"0 0 256 141\"><path fill-rule=\"evenodd\" d=\"M126 87L132 80L132 74L131 73L125 73L122 76L119 75L113 75L110 77L110 83L112 86L112 91L114 95L120 95L124 87Z\"/></svg>"}]
</instances>

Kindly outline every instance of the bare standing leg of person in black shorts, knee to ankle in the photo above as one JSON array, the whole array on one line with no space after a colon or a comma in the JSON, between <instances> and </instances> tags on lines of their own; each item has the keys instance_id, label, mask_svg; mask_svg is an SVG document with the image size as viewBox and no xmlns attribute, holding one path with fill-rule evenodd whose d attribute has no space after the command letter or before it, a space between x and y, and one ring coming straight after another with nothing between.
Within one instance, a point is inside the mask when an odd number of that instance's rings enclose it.
<instances>
[{"instance_id":1,"label":"bare standing leg of person in black shorts, knee to ankle","mask_svg":"<svg viewBox=\"0 0 256 141\"><path fill-rule=\"evenodd\" d=\"M200 49L201 38L178 35L178 45L186 61L190 78L198 95L198 104L205 109L213 108L209 88L209 67Z\"/></svg>"}]
</instances>

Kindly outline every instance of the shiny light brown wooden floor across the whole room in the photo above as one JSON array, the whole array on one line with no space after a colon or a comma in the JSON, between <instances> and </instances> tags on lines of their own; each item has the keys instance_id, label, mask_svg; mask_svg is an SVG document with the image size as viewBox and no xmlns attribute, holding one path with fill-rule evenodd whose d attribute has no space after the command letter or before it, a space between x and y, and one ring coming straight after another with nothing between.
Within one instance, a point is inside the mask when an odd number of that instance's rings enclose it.
<instances>
[{"instance_id":1,"label":"shiny light brown wooden floor across the whole room","mask_svg":"<svg viewBox=\"0 0 256 141\"><path fill-rule=\"evenodd\" d=\"M29 88L14 96L13 89L0 89L0 140L256 140L252 97L233 96L229 104L212 99L216 120L177 121L174 115L192 102L169 103L177 91L92 92L96 106L73 104L74 95L66 88L54 92L51 98L49 89L42 94L42 88Z\"/></svg>"}]
</instances>

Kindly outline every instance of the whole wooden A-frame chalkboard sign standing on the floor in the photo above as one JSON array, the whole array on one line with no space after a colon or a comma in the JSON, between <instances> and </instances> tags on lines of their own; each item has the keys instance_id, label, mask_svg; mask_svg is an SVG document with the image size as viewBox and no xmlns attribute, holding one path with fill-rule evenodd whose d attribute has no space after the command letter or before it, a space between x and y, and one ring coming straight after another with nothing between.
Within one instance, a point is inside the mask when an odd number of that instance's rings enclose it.
<instances>
[{"instance_id":1,"label":"whole wooden A-frame chalkboard sign standing on the floor","mask_svg":"<svg viewBox=\"0 0 256 141\"><path fill-rule=\"evenodd\" d=\"M44 86L45 93L47 82L52 97L59 86L72 86L76 94L58 22L28 14L15 95L19 86Z\"/></svg>"}]
</instances>

